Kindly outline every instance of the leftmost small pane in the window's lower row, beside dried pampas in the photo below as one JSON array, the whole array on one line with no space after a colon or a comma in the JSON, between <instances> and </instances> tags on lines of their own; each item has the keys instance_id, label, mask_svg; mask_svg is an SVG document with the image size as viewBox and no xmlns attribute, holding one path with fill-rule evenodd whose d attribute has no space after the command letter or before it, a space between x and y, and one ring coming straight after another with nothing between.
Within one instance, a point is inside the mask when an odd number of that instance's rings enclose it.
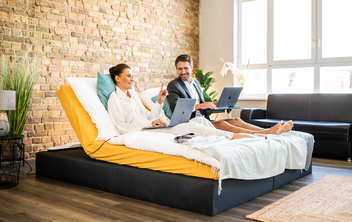
<instances>
[{"instance_id":1,"label":"leftmost small pane in the window's lower row, beside dried pampas","mask_svg":"<svg viewBox=\"0 0 352 222\"><path fill-rule=\"evenodd\" d=\"M266 94L266 69L244 70L243 94Z\"/></svg>"}]
</instances>

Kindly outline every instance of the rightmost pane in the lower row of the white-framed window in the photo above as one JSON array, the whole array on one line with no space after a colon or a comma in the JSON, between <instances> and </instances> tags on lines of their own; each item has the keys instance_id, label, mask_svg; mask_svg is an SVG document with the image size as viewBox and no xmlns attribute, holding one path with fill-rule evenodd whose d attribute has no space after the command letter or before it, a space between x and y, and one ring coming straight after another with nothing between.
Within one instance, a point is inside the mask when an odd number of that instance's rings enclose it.
<instances>
[{"instance_id":1,"label":"rightmost pane in the lower row of the white-framed window","mask_svg":"<svg viewBox=\"0 0 352 222\"><path fill-rule=\"evenodd\" d=\"M352 93L352 66L320 68L321 93Z\"/></svg>"}]
</instances>

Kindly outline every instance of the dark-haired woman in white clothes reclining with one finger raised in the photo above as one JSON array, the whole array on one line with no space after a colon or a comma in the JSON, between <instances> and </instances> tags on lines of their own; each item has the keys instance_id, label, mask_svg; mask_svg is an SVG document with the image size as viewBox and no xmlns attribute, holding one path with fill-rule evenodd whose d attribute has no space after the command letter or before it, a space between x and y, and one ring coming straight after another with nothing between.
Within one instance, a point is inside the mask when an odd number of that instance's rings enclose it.
<instances>
[{"instance_id":1,"label":"dark-haired woman in white clothes reclining with one finger raised","mask_svg":"<svg viewBox=\"0 0 352 222\"><path fill-rule=\"evenodd\" d=\"M244 137L254 138L245 134L234 134L233 132L215 129L209 121L202 121L197 118L194 118L194 121L178 124L174 127L143 129L145 127L166 125L163 121L158 120L163 101L168 95L168 91L163 90L164 83L159 91L157 102L153 105L151 111L147 111L138 95L128 92L128 90L133 88L134 82L131 68L126 64L118 64L111 67L109 72L115 83L116 92L111 93L109 97L108 112L121 134L142 130L177 134L180 131L189 130L195 135L225 136L229 140ZM201 122L201 124L195 121Z\"/></svg>"}]
</instances>

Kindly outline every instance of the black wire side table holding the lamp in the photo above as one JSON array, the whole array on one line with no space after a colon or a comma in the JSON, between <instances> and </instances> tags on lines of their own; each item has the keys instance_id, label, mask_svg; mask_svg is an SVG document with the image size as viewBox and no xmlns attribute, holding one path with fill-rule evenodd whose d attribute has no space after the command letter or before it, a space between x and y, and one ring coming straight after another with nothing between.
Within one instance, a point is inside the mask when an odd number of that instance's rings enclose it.
<instances>
[{"instance_id":1,"label":"black wire side table holding the lamp","mask_svg":"<svg viewBox=\"0 0 352 222\"><path fill-rule=\"evenodd\" d=\"M21 160L24 160L23 135L0 137L0 190L18 184Z\"/></svg>"}]
</instances>

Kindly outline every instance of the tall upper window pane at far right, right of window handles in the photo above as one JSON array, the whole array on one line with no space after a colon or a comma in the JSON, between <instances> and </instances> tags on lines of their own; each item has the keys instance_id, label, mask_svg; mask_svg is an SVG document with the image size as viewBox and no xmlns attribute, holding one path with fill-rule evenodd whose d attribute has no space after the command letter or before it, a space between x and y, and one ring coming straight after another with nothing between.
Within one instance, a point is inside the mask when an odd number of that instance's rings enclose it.
<instances>
[{"instance_id":1,"label":"tall upper window pane at far right, right of window handles","mask_svg":"<svg viewBox=\"0 0 352 222\"><path fill-rule=\"evenodd\" d=\"M351 0L322 1L322 57L352 56Z\"/></svg>"}]
</instances>

